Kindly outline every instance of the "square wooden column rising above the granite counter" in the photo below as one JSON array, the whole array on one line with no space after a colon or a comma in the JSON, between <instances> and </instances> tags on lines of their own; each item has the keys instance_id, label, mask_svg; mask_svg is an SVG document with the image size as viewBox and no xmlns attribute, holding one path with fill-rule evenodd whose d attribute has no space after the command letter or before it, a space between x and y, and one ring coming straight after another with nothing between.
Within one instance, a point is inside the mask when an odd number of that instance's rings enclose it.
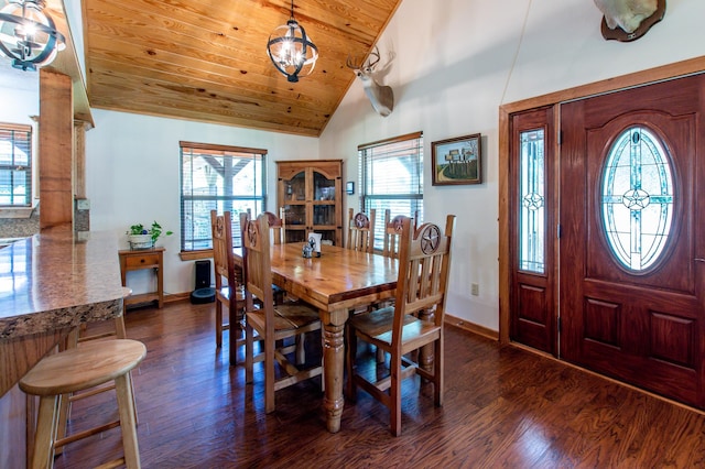
<instances>
[{"instance_id":1,"label":"square wooden column rising above the granite counter","mask_svg":"<svg viewBox=\"0 0 705 469\"><path fill-rule=\"evenodd\" d=\"M40 69L40 232L73 229L72 79Z\"/></svg>"}]
</instances>

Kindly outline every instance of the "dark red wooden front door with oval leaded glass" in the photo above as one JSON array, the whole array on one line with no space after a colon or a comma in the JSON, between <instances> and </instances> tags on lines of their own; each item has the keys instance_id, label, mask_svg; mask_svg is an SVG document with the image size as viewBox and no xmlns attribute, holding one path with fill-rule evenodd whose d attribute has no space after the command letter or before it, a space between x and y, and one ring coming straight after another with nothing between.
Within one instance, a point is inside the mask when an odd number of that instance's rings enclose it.
<instances>
[{"instance_id":1,"label":"dark red wooden front door with oval leaded glass","mask_svg":"<svg viewBox=\"0 0 705 469\"><path fill-rule=\"evenodd\" d=\"M705 77L561 107L561 356L705 406Z\"/></svg>"}]
</instances>

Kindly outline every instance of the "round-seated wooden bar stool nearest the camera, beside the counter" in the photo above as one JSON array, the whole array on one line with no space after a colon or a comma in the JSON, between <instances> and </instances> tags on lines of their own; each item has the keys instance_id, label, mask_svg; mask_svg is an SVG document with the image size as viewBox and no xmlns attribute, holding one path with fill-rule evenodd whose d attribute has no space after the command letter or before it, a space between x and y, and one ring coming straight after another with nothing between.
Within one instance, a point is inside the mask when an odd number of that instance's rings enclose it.
<instances>
[{"instance_id":1,"label":"round-seated wooden bar stool nearest the camera, beside the counter","mask_svg":"<svg viewBox=\"0 0 705 469\"><path fill-rule=\"evenodd\" d=\"M115 381L124 456L110 462L139 468L140 455L130 370L140 364L145 356L147 347L137 340L99 340L45 357L30 370L20 380L22 391L40 396L34 455L30 467L53 467L54 448L79 439L56 440L61 396ZM88 435L82 438L85 436Z\"/></svg>"}]
</instances>

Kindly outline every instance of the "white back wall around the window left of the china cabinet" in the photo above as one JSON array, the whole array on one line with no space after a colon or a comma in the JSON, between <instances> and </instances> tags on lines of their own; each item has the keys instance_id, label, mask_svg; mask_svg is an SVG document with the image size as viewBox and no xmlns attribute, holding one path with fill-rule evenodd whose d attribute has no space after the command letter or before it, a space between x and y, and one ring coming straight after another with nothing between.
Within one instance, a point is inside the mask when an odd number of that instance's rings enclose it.
<instances>
[{"instance_id":1,"label":"white back wall around the window left of the china cabinet","mask_svg":"<svg viewBox=\"0 0 705 469\"><path fill-rule=\"evenodd\" d=\"M126 230L135 222L156 220L165 230L159 244L164 253L164 292L194 290L194 262L180 252L180 141L265 149L268 209L276 206L276 166L280 160L318 159L314 138L261 132L227 126L93 110L95 129L86 132L86 196L90 200L90 229L111 230L128 248ZM117 254L116 254L117 255ZM153 275L151 276L153 277ZM147 281L145 281L147 280ZM150 290L150 273L130 273L134 293Z\"/></svg>"}]
</instances>

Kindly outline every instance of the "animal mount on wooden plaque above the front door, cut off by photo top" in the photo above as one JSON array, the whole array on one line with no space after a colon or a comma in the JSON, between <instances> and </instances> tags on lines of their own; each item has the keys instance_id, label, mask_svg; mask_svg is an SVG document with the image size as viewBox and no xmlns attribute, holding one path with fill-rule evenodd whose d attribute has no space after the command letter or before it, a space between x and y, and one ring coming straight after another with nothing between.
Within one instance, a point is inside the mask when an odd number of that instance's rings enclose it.
<instances>
[{"instance_id":1,"label":"animal mount on wooden plaque above the front door, cut off by photo top","mask_svg":"<svg viewBox=\"0 0 705 469\"><path fill-rule=\"evenodd\" d=\"M594 1L604 14L600 30L606 40L638 40L665 14L665 0Z\"/></svg>"}]
</instances>

